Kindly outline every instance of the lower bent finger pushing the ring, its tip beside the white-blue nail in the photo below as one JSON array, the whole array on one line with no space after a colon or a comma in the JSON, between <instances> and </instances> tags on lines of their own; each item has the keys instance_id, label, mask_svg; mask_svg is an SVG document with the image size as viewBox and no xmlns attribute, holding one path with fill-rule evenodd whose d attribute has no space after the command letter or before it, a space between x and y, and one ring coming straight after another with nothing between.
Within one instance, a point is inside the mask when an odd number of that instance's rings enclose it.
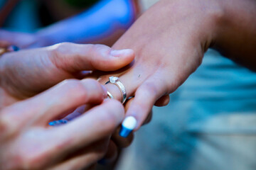
<instances>
[{"instance_id":1,"label":"lower bent finger pushing the ring, its tip beside the white-blue nail","mask_svg":"<svg viewBox=\"0 0 256 170\"><path fill-rule=\"evenodd\" d=\"M33 137L32 141L27 141L31 142L31 145L27 145L21 151L26 153L33 150L26 157L24 156L23 159L28 160L25 164L38 162L37 166L43 166L48 162L53 164L60 162L73 154L74 150L77 151L109 137L123 118L122 104L106 99L100 106L95 106L86 114L65 125L47 129L34 128L32 132L27 133L28 137ZM38 133L40 135L35 137Z\"/></svg>"}]
</instances>

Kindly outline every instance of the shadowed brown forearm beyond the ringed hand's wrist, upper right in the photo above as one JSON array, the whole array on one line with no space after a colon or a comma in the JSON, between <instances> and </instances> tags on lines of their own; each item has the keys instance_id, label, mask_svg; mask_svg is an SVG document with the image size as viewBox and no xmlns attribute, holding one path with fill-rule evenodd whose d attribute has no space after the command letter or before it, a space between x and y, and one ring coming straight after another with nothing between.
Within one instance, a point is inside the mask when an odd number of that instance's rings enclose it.
<instances>
[{"instance_id":1,"label":"shadowed brown forearm beyond the ringed hand's wrist, upper right","mask_svg":"<svg viewBox=\"0 0 256 170\"><path fill-rule=\"evenodd\" d=\"M221 20L213 47L225 57L254 69L256 64L256 1L220 0Z\"/></svg>"}]
</instances>

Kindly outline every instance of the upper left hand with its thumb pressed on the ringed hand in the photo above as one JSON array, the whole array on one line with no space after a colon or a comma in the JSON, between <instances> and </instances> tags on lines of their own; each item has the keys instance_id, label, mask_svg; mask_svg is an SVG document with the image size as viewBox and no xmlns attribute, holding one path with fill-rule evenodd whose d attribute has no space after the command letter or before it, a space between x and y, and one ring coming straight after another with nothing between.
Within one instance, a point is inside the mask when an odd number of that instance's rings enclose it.
<instances>
[{"instance_id":1,"label":"upper left hand with its thumb pressed on the ringed hand","mask_svg":"<svg viewBox=\"0 0 256 170\"><path fill-rule=\"evenodd\" d=\"M105 45L60 43L34 50L5 53L0 58L1 106L44 91L64 79L84 78L82 71L113 71L132 62L132 50Z\"/></svg>"}]
</instances>

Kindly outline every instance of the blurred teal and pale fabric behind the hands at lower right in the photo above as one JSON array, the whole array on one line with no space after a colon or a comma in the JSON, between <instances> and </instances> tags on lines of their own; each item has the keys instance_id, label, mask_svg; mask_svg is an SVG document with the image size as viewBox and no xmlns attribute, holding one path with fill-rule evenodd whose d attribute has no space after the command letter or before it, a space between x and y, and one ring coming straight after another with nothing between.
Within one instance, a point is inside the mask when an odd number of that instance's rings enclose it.
<instances>
[{"instance_id":1,"label":"blurred teal and pale fabric behind the hands at lower right","mask_svg":"<svg viewBox=\"0 0 256 170\"><path fill-rule=\"evenodd\" d=\"M118 170L255 170L256 73L208 50Z\"/></svg>"}]
</instances>

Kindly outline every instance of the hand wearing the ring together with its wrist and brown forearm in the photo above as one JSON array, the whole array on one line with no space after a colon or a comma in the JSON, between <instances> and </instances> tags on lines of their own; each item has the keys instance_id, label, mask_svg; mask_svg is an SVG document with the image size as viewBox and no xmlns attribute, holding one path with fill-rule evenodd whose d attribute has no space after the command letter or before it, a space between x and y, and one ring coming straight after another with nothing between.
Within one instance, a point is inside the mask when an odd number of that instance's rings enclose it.
<instances>
[{"instance_id":1,"label":"hand wearing the ring together with its wrist and brown forearm","mask_svg":"<svg viewBox=\"0 0 256 170\"><path fill-rule=\"evenodd\" d=\"M156 15L157 13L157 15ZM154 103L175 91L196 71L208 47L255 69L256 1L162 0L149 8L122 37L114 49L131 48L135 62L119 77L134 101L126 113L144 123ZM119 89L107 84L114 98ZM169 98L161 100L169 102Z\"/></svg>"}]
</instances>

